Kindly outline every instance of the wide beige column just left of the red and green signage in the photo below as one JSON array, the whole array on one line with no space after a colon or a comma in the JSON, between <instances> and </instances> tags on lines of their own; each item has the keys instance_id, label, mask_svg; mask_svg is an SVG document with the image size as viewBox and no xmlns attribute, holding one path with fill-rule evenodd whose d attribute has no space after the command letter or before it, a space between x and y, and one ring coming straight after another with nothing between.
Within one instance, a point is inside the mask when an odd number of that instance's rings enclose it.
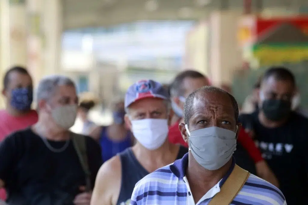
<instances>
[{"instance_id":1,"label":"wide beige column just left of the red and green signage","mask_svg":"<svg viewBox=\"0 0 308 205\"><path fill-rule=\"evenodd\" d=\"M210 69L214 85L230 84L242 65L237 29L241 11L216 11L210 17Z\"/></svg>"}]
</instances>

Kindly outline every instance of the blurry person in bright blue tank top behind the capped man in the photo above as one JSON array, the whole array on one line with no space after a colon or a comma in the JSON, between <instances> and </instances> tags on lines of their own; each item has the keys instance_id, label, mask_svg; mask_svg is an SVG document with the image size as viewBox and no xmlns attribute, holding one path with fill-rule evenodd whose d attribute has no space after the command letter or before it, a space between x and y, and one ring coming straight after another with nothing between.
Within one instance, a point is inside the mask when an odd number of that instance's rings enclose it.
<instances>
[{"instance_id":1,"label":"blurry person in bright blue tank top behind the capped man","mask_svg":"<svg viewBox=\"0 0 308 205\"><path fill-rule=\"evenodd\" d=\"M124 101L112 104L113 123L109 126L97 127L90 134L97 140L102 148L103 162L109 160L117 153L131 147L134 137L124 124Z\"/></svg>"}]
</instances>

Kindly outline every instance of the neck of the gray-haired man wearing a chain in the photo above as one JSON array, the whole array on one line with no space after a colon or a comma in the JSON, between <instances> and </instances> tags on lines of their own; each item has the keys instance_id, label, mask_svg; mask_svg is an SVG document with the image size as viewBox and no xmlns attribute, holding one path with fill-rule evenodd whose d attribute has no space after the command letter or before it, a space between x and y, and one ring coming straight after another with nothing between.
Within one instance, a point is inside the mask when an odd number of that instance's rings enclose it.
<instances>
[{"instance_id":1,"label":"neck of the gray-haired man wearing a chain","mask_svg":"<svg viewBox=\"0 0 308 205\"><path fill-rule=\"evenodd\" d=\"M32 126L34 133L41 137L45 137L48 140L53 141L63 141L68 140L70 135L68 130L63 130L58 128L53 123L44 122L44 120L39 120L36 124Z\"/></svg>"}]
</instances>

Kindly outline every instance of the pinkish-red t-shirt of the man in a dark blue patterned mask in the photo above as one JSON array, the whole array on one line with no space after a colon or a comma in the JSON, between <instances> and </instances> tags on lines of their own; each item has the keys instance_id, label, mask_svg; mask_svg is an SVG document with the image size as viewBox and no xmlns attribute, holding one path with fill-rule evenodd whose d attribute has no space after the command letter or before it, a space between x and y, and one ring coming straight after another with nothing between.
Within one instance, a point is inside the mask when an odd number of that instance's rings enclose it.
<instances>
[{"instance_id":1,"label":"pinkish-red t-shirt of the man in a dark blue patterned mask","mask_svg":"<svg viewBox=\"0 0 308 205\"><path fill-rule=\"evenodd\" d=\"M31 110L23 116L11 116L6 110L0 110L0 142L12 132L25 129L38 121L38 114ZM0 199L6 199L4 189L0 189Z\"/></svg>"}]
</instances>

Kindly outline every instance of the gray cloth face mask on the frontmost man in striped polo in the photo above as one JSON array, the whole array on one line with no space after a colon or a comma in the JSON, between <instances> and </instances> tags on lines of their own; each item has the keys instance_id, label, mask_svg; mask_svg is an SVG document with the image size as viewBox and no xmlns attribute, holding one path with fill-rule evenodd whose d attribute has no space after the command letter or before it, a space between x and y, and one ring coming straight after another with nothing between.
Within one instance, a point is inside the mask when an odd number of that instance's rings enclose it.
<instances>
[{"instance_id":1,"label":"gray cloth face mask on the frontmost man in striped polo","mask_svg":"<svg viewBox=\"0 0 308 205\"><path fill-rule=\"evenodd\" d=\"M219 128L209 127L189 132L189 151L195 160L205 169L217 170L224 166L236 150L235 132Z\"/></svg>"}]
</instances>

